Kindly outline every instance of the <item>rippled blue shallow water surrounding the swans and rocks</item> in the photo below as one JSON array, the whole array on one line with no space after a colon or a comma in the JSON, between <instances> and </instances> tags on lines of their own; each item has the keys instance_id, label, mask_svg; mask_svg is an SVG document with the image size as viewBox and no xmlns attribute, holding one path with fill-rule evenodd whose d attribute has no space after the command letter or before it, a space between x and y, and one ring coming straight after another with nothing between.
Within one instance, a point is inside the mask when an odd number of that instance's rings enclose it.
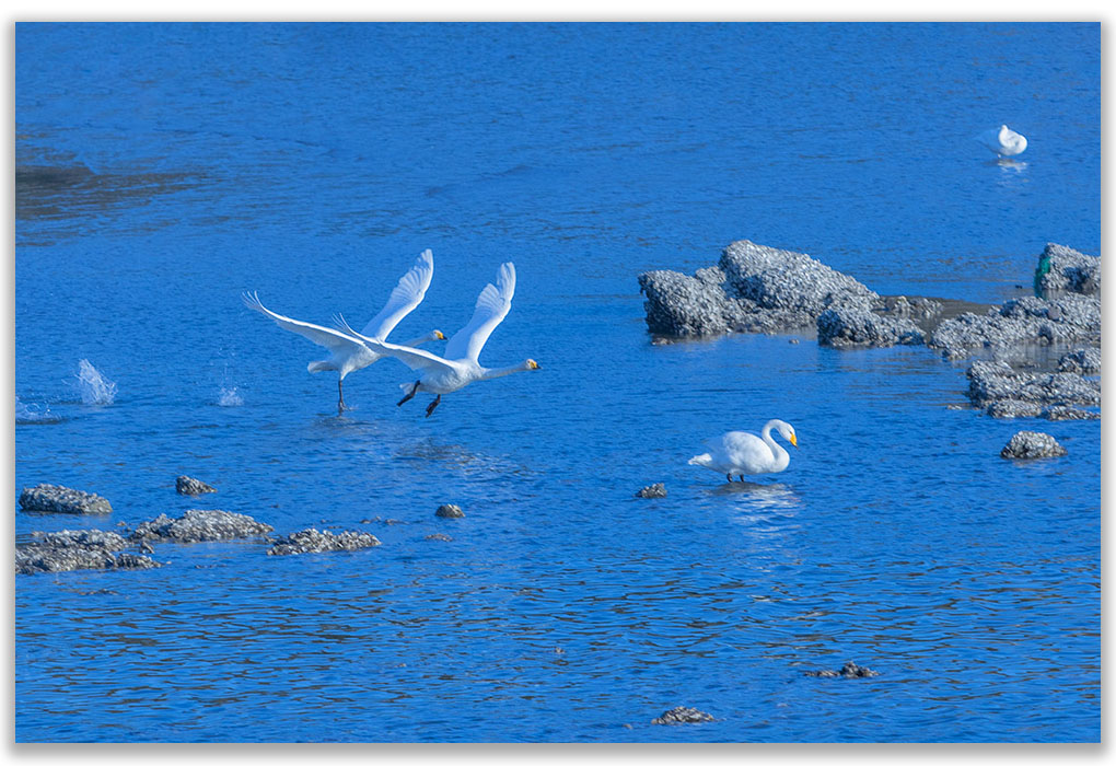
<instances>
[{"instance_id":1,"label":"rippled blue shallow water surrounding the swans and rocks","mask_svg":"<svg viewBox=\"0 0 1116 766\"><path fill-rule=\"evenodd\" d=\"M383 542L19 576L17 740L1099 739L1098 421L949 409L965 365L923 348L652 345L635 281L748 238L992 304L1048 240L1098 253L1098 26L18 25L16 50L16 486L115 509L17 511L18 538L204 507ZM1014 163L972 140L1000 122ZM239 299L363 323L427 247L395 337L464 325L513 260L483 361L541 371L425 419L388 360L338 418L320 350ZM785 473L686 465L773 416ZM1069 454L1002 460L1021 428ZM848 659L881 676L804 677ZM676 705L719 720L650 725Z\"/></svg>"}]
</instances>

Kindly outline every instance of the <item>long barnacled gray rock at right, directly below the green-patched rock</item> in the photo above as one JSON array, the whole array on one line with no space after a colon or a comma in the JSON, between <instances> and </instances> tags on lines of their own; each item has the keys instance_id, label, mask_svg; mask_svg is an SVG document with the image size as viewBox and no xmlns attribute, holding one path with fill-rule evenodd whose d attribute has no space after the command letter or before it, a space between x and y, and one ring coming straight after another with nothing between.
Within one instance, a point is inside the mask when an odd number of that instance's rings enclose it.
<instances>
[{"instance_id":1,"label":"long barnacled gray rock at right, directly below the green-patched rock","mask_svg":"<svg viewBox=\"0 0 1116 766\"><path fill-rule=\"evenodd\" d=\"M1035 343L1099 343L1099 296L1064 295L1054 300L1012 298L988 314L965 313L942 322L927 345L946 358L963 358L974 348L1004 350Z\"/></svg>"}]
</instances>

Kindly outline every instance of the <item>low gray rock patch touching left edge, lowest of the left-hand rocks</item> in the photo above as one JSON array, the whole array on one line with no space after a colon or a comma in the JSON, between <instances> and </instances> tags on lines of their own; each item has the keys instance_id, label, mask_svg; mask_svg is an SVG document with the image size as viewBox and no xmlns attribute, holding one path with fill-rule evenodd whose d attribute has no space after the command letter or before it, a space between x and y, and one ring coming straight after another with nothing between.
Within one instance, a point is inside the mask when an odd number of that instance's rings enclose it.
<instances>
[{"instance_id":1,"label":"low gray rock patch touching left edge, lowest of the left-hand rocks","mask_svg":"<svg viewBox=\"0 0 1116 766\"><path fill-rule=\"evenodd\" d=\"M151 569L157 562L133 553L117 553L127 540L115 532L64 529L16 546L16 573L75 569Z\"/></svg>"}]
</instances>

